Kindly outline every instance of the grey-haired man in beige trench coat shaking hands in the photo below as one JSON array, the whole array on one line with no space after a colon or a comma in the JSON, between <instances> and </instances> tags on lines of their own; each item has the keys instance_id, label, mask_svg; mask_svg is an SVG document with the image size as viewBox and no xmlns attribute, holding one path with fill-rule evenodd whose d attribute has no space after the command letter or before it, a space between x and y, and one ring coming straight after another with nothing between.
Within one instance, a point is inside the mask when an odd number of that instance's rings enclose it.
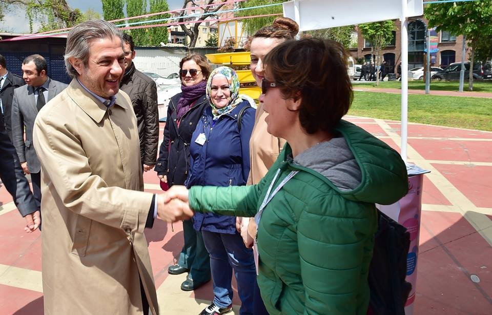
<instances>
[{"instance_id":1,"label":"grey-haired man in beige trench coat shaking hands","mask_svg":"<svg viewBox=\"0 0 492 315\"><path fill-rule=\"evenodd\" d=\"M158 216L186 206L143 192L136 117L119 91L121 34L88 21L67 38L69 87L34 124L42 169L45 314L158 313L144 236Z\"/></svg>"}]
</instances>

